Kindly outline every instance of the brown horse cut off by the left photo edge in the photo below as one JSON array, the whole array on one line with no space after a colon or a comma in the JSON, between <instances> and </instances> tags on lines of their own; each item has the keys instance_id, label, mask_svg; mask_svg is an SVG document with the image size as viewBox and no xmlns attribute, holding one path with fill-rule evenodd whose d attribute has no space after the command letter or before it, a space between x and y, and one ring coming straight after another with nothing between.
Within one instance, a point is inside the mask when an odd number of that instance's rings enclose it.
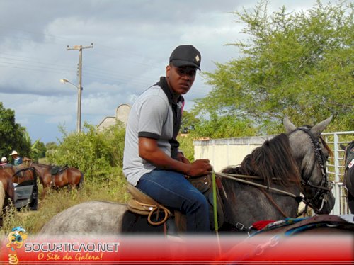
<instances>
[{"instance_id":1,"label":"brown horse cut off by the left photo edge","mask_svg":"<svg viewBox=\"0 0 354 265\"><path fill-rule=\"evenodd\" d=\"M14 201L15 188L13 187L12 174L8 169L0 168L0 225L2 225L2 213L8 205L8 200Z\"/></svg>"}]
</instances>

